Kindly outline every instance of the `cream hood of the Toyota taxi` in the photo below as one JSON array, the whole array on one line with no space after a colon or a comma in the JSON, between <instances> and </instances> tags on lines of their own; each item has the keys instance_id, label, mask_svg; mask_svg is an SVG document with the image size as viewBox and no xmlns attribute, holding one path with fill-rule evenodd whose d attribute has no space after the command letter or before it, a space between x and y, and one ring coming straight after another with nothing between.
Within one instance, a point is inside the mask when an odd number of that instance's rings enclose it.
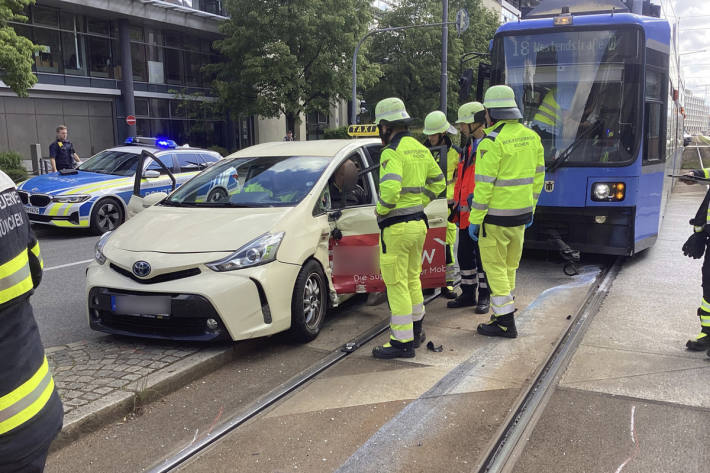
<instances>
[{"instance_id":1,"label":"cream hood of the Toyota taxi","mask_svg":"<svg viewBox=\"0 0 710 473\"><path fill-rule=\"evenodd\" d=\"M118 227L106 250L159 253L233 252L270 231L291 210L155 205Z\"/></svg>"}]
</instances>

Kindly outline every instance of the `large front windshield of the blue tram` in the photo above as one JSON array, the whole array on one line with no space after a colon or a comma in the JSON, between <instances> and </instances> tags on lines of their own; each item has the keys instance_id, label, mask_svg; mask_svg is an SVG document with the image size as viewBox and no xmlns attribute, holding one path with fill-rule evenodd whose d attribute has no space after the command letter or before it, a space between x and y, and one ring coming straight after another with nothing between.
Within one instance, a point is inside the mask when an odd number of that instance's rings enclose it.
<instances>
[{"instance_id":1,"label":"large front windshield of the blue tram","mask_svg":"<svg viewBox=\"0 0 710 473\"><path fill-rule=\"evenodd\" d=\"M642 89L637 31L516 34L496 38L493 51L493 80L515 90L548 163L563 154L566 165L634 158Z\"/></svg>"}]
</instances>

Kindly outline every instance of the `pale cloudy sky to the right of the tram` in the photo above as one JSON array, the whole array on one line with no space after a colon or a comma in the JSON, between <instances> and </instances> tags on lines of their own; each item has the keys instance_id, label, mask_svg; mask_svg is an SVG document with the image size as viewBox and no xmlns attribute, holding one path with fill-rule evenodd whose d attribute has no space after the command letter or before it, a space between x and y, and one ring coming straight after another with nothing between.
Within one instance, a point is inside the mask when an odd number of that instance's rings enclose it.
<instances>
[{"instance_id":1,"label":"pale cloudy sky to the right of the tram","mask_svg":"<svg viewBox=\"0 0 710 473\"><path fill-rule=\"evenodd\" d=\"M707 0L654 0L664 16L678 22L681 74L685 88L710 102L710 2ZM693 51L701 51L687 54Z\"/></svg>"}]
</instances>

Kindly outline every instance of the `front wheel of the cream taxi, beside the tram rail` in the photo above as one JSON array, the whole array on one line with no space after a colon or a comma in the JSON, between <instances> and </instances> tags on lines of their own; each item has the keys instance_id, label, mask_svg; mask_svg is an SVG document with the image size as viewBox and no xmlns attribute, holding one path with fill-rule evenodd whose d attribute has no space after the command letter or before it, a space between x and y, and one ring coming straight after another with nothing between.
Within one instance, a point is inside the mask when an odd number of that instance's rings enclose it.
<instances>
[{"instance_id":1,"label":"front wheel of the cream taxi, beside the tram rail","mask_svg":"<svg viewBox=\"0 0 710 473\"><path fill-rule=\"evenodd\" d=\"M310 342L320 333L327 310L325 275L320 265L311 260L301 268L291 300L291 334L300 342Z\"/></svg>"}]
</instances>

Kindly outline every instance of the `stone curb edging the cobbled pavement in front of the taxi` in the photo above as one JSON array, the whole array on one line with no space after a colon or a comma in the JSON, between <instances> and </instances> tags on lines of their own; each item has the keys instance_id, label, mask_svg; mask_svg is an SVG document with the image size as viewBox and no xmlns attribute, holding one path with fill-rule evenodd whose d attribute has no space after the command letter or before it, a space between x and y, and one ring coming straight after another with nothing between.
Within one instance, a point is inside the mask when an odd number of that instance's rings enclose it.
<instances>
[{"instance_id":1,"label":"stone curb edging the cobbled pavement in front of the taxi","mask_svg":"<svg viewBox=\"0 0 710 473\"><path fill-rule=\"evenodd\" d=\"M160 399L201 378L229 363L233 357L234 346L206 348L133 381L120 391L78 407L65 415L64 426L52 443L50 452L60 450L83 435L129 414L140 405Z\"/></svg>"}]
</instances>

